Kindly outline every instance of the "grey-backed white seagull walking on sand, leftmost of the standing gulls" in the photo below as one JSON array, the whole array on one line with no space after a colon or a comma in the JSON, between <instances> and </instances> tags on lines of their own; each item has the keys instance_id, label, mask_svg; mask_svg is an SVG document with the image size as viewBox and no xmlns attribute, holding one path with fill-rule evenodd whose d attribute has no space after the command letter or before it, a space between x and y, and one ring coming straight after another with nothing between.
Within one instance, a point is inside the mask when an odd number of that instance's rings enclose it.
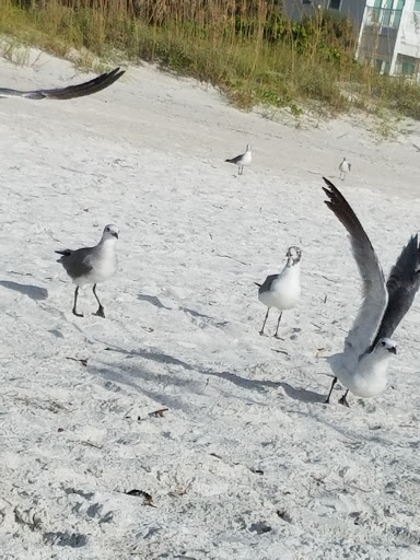
<instances>
[{"instance_id":1,"label":"grey-backed white seagull walking on sand, leftmost of the standing gulls","mask_svg":"<svg viewBox=\"0 0 420 560\"><path fill-rule=\"evenodd\" d=\"M83 284L93 284L93 294L100 305L94 315L105 318L104 307L96 295L96 284L110 278L117 270L115 244L118 240L118 233L119 230L116 225L105 225L102 238L94 247L56 250L58 255L62 255L57 262L61 262L66 272L77 284L72 310L77 317L83 317L83 314L77 311L79 288Z\"/></svg>"}]
</instances>

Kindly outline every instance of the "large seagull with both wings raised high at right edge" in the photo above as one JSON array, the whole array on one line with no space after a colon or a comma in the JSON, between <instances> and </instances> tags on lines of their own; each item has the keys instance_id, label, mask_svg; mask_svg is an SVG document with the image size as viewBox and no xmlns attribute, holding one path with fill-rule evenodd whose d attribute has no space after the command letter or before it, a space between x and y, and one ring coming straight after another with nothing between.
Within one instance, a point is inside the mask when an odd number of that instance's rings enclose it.
<instances>
[{"instance_id":1,"label":"large seagull with both wings raised high at right edge","mask_svg":"<svg viewBox=\"0 0 420 560\"><path fill-rule=\"evenodd\" d=\"M351 249L362 279L362 305L345 340L341 353L327 358L335 375L326 402L337 380L347 388L340 398L349 406L349 390L363 398L375 397L386 388L389 359L397 353L390 338L411 307L420 287L420 249L412 235L401 250L385 283L384 272L362 224L346 198L324 177L329 200L325 203L350 234Z\"/></svg>"}]
</instances>

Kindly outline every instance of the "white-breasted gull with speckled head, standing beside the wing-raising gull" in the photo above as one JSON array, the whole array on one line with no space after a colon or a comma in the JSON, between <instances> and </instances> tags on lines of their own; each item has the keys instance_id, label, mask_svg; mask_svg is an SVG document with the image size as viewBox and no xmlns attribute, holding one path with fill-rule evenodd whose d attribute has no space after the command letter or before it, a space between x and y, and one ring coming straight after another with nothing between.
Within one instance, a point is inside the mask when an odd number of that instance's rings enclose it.
<instances>
[{"instance_id":1,"label":"white-breasted gull with speckled head, standing beside the wing-raising gull","mask_svg":"<svg viewBox=\"0 0 420 560\"><path fill-rule=\"evenodd\" d=\"M279 338L279 325L283 311L294 307L301 296L301 257L302 250L299 247L289 247L285 254L288 261L280 275L268 276L264 284L258 285L258 300L267 305L266 318L259 334L264 335L268 314L271 307L280 311L279 320L277 322L276 338Z\"/></svg>"}]
</instances>

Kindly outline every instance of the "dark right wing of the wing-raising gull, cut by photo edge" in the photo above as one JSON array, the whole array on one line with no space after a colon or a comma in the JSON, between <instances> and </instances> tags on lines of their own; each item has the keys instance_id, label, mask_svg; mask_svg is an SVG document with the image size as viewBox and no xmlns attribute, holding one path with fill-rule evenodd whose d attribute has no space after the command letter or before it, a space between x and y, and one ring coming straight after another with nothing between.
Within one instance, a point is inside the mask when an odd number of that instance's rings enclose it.
<instances>
[{"instance_id":1,"label":"dark right wing of the wing-raising gull, cut by photo edge","mask_svg":"<svg viewBox=\"0 0 420 560\"><path fill-rule=\"evenodd\" d=\"M372 347L376 345L380 338L390 338L411 307L420 288L419 269L419 238L418 235L413 235L401 250L397 262L389 272L389 278L386 282L389 295L388 305Z\"/></svg>"}]
</instances>

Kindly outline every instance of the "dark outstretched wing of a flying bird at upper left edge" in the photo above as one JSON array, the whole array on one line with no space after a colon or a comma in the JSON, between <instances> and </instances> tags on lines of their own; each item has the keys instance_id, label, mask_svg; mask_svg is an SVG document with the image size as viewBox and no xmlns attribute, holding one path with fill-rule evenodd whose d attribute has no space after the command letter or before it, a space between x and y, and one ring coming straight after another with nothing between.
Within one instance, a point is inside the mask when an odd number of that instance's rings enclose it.
<instances>
[{"instance_id":1,"label":"dark outstretched wing of a flying bird at upper left edge","mask_svg":"<svg viewBox=\"0 0 420 560\"><path fill-rule=\"evenodd\" d=\"M79 83L75 85L68 85L67 88L56 88L54 90L34 90L23 92L20 90L8 90L0 88L1 97L26 97L28 100L72 100L74 97L83 97L84 95L92 95L97 93L108 85L113 84L125 73L124 70L115 68L110 72L105 72L89 82Z\"/></svg>"}]
</instances>

